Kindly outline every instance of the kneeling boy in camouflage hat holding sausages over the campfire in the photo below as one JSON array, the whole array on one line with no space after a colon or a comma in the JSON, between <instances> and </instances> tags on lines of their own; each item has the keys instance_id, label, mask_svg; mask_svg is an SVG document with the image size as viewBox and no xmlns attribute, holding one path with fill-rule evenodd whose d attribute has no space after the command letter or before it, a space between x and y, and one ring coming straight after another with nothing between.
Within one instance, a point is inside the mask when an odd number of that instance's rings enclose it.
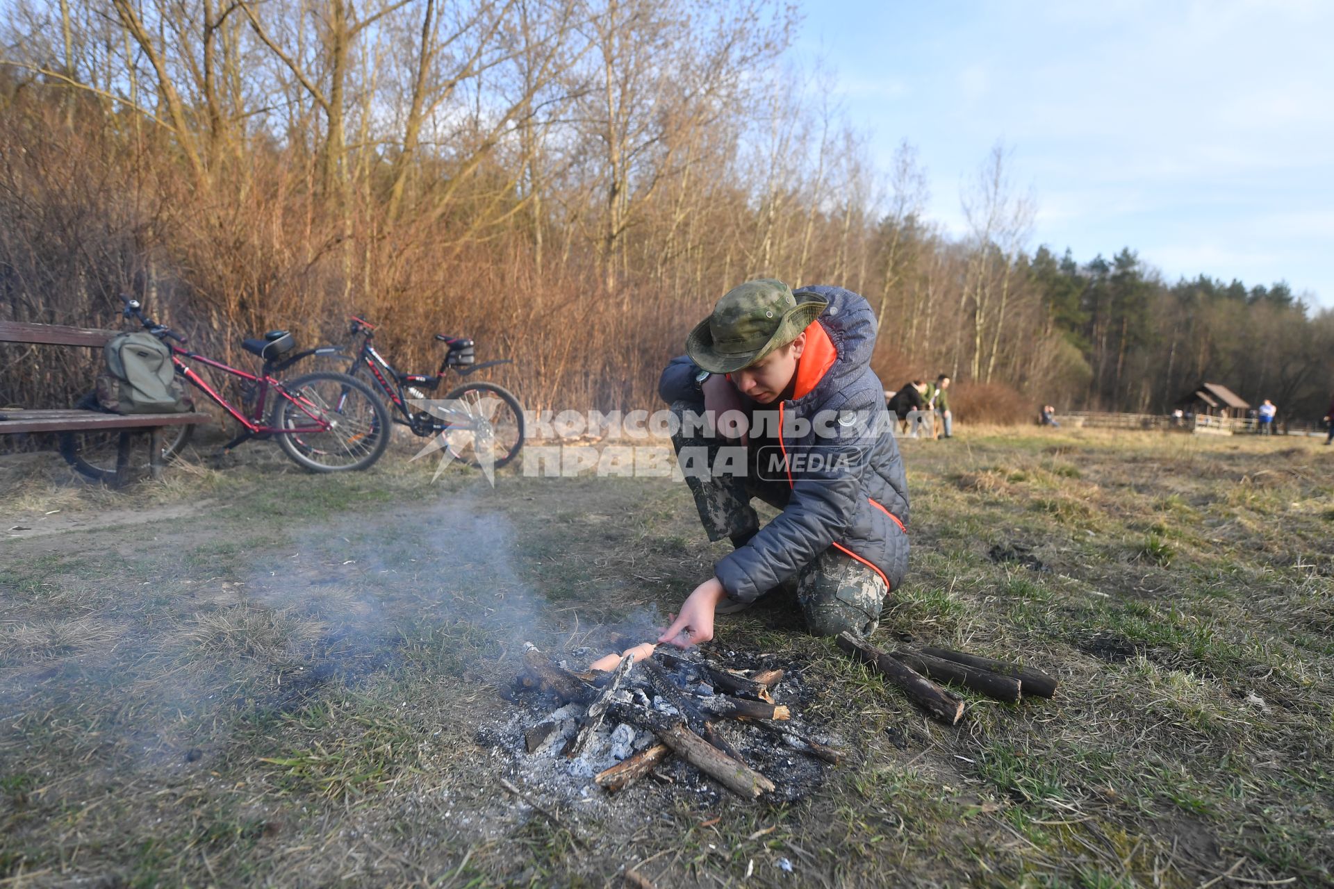
<instances>
[{"instance_id":1,"label":"kneeling boy in camouflage hat holding sausages over the campfire","mask_svg":"<svg viewBox=\"0 0 1334 889\"><path fill-rule=\"evenodd\" d=\"M728 291L691 331L658 391L680 421L672 444L704 530L734 552L660 642L708 641L715 613L792 578L812 633L875 630L907 569L908 494L874 348L864 299L770 279ZM782 512L760 528L752 497Z\"/></svg>"}]
</instances>

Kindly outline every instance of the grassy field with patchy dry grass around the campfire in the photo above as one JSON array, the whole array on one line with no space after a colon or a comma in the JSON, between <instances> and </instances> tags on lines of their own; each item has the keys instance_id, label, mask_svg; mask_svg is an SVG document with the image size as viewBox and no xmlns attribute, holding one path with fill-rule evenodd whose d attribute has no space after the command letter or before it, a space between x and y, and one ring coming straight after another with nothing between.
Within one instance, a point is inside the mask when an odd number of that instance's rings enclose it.
<instances>
[{"instance_id":1,"label":"grassy field with patchy dry grass around the campfire","mask_svg":"<svg viewBox=\"0 0 1334 889\"><path fill-rule=\"evenodd\" d=\"M0 461L0 885L1334 884L1334 454L1059 431L904 443L876 634L1018 657L1053 701L923 718L783 608L858 752L796 802L654 781L511 798L532 640L648 626L724 552L667 480L175 469L111 493ZM195 504L201 504L195 506ZM57 512L59 510L59 512ZM602 653L600 650L598 653ZM791 868L787 870L783 864Z\"/></svg>"}]
</instances>

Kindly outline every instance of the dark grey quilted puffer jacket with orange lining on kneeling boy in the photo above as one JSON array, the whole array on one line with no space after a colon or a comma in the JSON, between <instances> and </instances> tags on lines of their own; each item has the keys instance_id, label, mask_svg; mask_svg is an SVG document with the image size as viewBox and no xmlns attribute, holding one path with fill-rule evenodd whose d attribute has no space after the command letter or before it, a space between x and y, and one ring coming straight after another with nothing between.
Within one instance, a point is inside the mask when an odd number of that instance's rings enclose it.
<instances>
[{"instance_id":1,"label":"dark grey quilted puffer jacket with orange lining on kneeling boy","mask_svg":"<svg viewBox=\"0 0 1334 889\"><path fill-rule=\"evenodd\" d=\"M839 287L802 288L798 299L802 292L828 307L806 328L794 397L774 411L782 416L778 453L791 496L778 517L714 568L739 601L768 592L830 546L868 564L890 589L907 570L907 480L884 387L870 368L875 315L864 299ZM659 395L668 404L699 401L698 372L687 356L672 359Z\"/></svg>"}]
</instances>

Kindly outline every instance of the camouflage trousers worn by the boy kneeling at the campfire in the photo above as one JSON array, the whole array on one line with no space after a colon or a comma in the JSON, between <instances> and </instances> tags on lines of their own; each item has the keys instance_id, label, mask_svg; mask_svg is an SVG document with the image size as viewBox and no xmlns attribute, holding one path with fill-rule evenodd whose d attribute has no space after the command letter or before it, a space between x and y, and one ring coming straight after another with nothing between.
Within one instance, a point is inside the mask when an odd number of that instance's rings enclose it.
<instances>
[{"instance_id":1,"label":"camouflage trousers worn by the boy kneeling at the campfire","mask_svg":"<svg viewBox=\"0 0 1334 889\"><path fill-rule=\"evenodd\" d=\"M671 409L679 417L686 411L699 413L703 407L676 401ZM706 456L707 466L712 468L718 465L722 448L740 445L724 443L718 437L694 435L694 431L686 436L683 429L684 424L680 424L672 436L672 446L676 449L678 460L682 461L686 484L695 497L699 520L710 540L730 537L734 542L739 542L755 534L759 530L759 514L751 505L755 498L776 509L787 505L791 496L787 482L762 478L756 472L752 448L746 449L744 476L702 472L700 460ZM788 581L783 585L788 585ZM855 636L870 636L879 625L880 609L888 593L884 580L876 572L832 546L796 573L795 586L796 601L806 617L806 625L816 636L838 636L843 630Z\"/></svg>"}]
</instances>

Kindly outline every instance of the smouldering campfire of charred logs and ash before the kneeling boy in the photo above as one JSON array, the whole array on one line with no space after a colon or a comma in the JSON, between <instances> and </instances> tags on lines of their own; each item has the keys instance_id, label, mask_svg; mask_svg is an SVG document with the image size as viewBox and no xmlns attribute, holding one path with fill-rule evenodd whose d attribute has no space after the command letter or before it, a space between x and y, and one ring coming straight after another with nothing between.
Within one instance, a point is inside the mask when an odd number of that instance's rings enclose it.
<instances>
[{"instance_id":1,"label":"smouldering campfire of charred logs and ash before the kneeling boy","mask_svg":"<svg viewBox=\"0 0 1334 889\"><path fill-rule=\"evenodd\" d=\"M554 694L562 706L524 733L526 746L530 754L554 753L571 762L610 761L591 774L608 793L675 757L754 800L776 786L739 746L762 750L771 764L799 756L836 765L844 757L798 728L788 705L775 697L783 678L782 669L735 670L698 652L652 645L572 670L530 644L518 684Z\"/></svg>"}]
</instances>

